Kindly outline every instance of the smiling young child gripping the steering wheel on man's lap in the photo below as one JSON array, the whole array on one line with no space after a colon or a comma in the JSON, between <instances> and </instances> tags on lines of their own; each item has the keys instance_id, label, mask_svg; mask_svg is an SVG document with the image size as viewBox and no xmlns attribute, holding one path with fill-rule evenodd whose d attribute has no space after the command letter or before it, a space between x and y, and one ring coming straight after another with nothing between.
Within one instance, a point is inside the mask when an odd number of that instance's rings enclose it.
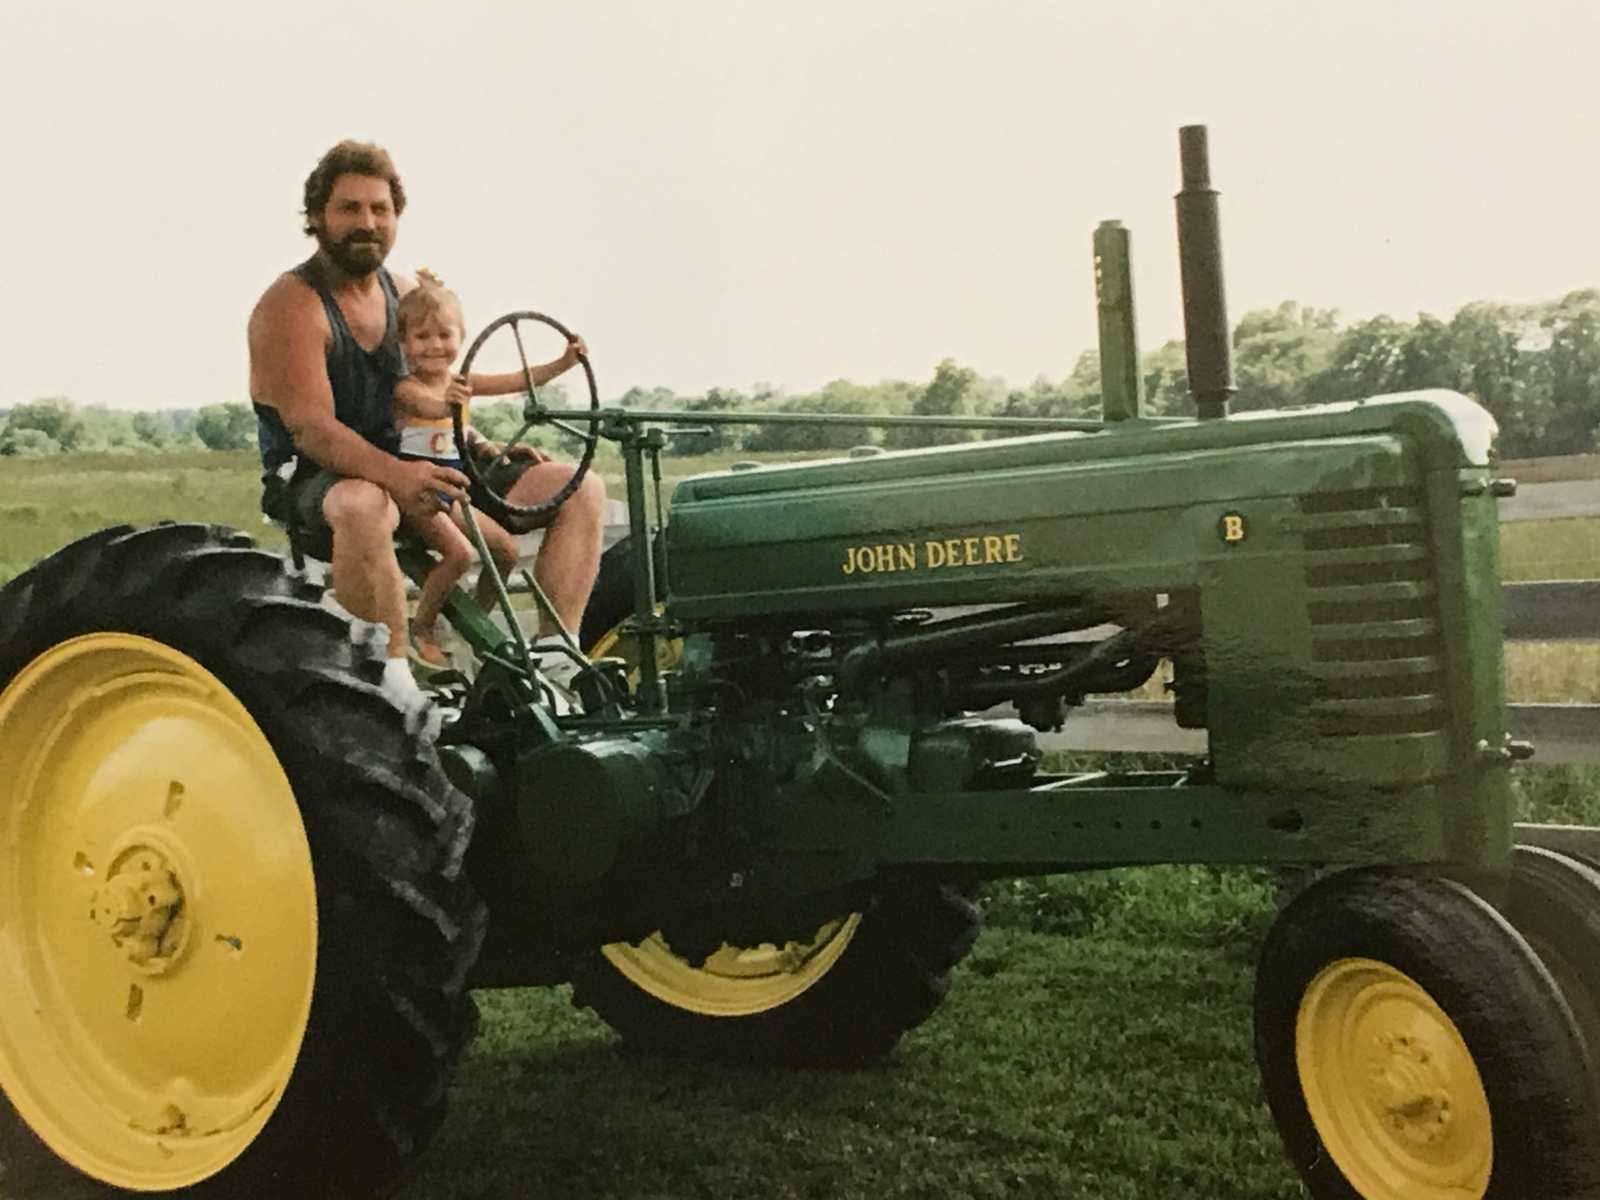
<instances>
[{"instance_id":1,"label":"smiling young child gripping the steering wheel on man's lap","mask_svg":"<svg viewBox=\"0 0 1600 1200\"><path fill-rule=\"evenodd\" d=\"M467 403L474 395L507 395L523 390L526 379L522 371L472 374L466 379L450 373L466 338L466 320L456 293L429 270L419 270L416 288L400 298L395 323L400 334L400 350L411 370L410 376L395 384L394 395L400 458L432 459L461 470L450 422L451 405L461 406L467 448L474 454L482 458L501 453L498 445L467 422ZM534 387L576 365L579 355L584 354L587 349L582 338L573 339L560 358L530 370ZM542 458L531 448L525 448L523 456ZM482 510L475 512L474 517L501 573L509 573L517 565L517 539ZM451 504L421 520L408 517L406 522L440 555L438 563L422 581L416 616L411 619L411 648L426 666L443 667L446 659L438 645L435 622L450 589L467 573L467 568L477 560L477 554L466 534L466 518L459 506ZM480 600L486 590L480 584Z\"/></svg>"}]
</instances>

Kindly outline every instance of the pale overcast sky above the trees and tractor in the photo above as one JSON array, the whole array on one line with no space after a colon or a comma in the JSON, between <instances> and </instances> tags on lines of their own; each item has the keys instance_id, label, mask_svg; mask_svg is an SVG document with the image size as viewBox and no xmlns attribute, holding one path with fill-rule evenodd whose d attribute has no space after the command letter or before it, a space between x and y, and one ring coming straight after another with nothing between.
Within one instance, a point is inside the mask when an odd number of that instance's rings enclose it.
<instances>
[{"instance_id":1,"label":"pale overcast sky above the trees and tractor","mask_svg":"<svg viewBox=\"0 0 1600 1200\"><path fill-rule=\"evenodd\" d=\"M3 8L0 406L245 400L245 317L344 136L405 178L390 262L469 326L579 328L606 398L1059 378L1106 218L1144 347L1179 336L1195 122L1235 318L1600 285L1592 0Z\"/></svg>"}]
</instances>

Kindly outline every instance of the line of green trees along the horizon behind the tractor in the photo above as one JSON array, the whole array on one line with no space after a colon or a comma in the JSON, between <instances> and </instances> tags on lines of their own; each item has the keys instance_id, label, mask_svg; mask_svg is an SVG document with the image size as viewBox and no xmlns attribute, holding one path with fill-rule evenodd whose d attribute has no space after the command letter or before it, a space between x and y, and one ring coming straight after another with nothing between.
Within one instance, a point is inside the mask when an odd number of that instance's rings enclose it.
<instances>
[{"instance_id":1,"label":"line of green trees along the horizon behind the tractor","mask_svg":"<svg viewBox=\"0 0 1600 1200\"><path fill-rule=\"evenodd\" d=\"M1192 411L1184 346L1170 341L1141 360L1146 411ZM1373 317L1341 323L1331 309L1285 301L1246 312L1234 328L1234 411L1360 400L1386 392L1446 387L1474 397L1501 427L1504 458L1581 454L1600 450L1600 290L1538 304L1477 302L1442 320ZM566 406L560 386L541 395ZM858 384L837 379L816 392L786 394L757 384L749 390L712 387L680 395L666 387L630 387L629 408L718 413L891 413L922 416L1082 416L1101 408L1099 362L1078 357L1061 379L1040 376L1026 387L986 378L954 360L926 381ZM498 440L520 426L515 402L474 406L474 422ZM818 451L866 442L886 448L965 442L981 437L952 429L870 430L858 426L710 426L669 440L669 453ZM0 413L0 456L74 451L245 450L254 446L248 405L130 413L75 406L62 397Z\"/></svg>"}]
</instances>

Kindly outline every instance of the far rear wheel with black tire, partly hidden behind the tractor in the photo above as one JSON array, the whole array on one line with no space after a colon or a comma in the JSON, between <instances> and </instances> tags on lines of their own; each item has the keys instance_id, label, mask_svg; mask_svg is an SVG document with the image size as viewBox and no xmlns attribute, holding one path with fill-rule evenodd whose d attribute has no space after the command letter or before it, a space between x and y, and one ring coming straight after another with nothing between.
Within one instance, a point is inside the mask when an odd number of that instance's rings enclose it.
<instances>
[{"instance_id":1,"label":"far rear wheel with black tire, partly hidden behind the tractor","mask_svg":"<svg viewBox=\"0 0 1600 1200\"><path fill-rule=\"evenodd\" d=\"M602 562L582 627L592 658L634 658L616 635L632 611L629 562L629 541ZM664 667L678 648L661 643ZM635 1050L850 1066L888 1053L934 1013L981 922L950 882L883 880L859 910L840 912L805 941L725 944L701 963L661 934L606 946L576 966L573 998Z\"/></svg>"}]
</instances>

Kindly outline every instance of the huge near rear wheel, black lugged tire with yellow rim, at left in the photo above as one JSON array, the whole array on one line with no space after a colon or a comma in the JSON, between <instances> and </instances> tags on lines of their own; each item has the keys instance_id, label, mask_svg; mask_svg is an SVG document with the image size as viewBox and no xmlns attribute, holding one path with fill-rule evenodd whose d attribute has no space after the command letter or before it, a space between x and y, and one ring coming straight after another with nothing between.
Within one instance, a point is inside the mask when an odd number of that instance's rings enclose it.
<instances>
[{"instance_id":1,"label":"huge near rear wheel, black lugged tire with yellow rim, at left","mask_svg":"<svg viewBox=\"0 0 1600 1200\"><path fill-rule=\"evenodd\" d=\"M0 589L10 1189L360 1197L438 1126L485 910L470 805L381 670L216 526Z\"/></svg>"}]
</instances>

